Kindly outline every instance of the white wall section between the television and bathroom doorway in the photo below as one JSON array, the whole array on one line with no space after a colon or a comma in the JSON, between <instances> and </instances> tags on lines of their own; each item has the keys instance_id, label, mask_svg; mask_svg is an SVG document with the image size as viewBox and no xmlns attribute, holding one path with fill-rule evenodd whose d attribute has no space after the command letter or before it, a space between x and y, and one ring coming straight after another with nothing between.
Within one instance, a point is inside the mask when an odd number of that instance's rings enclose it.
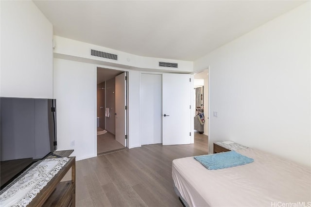
<instances>
[{"instance_id":1,"label":"white wall section between the television and bathroom doorway","mask_svg":"<svg viewBox=\"0 0 311 207\"><path fill-rule=\"evenodd\" d=\"M58 150L74 149L77 160L97 156L96 66L54 59ZM75 141L75 146L70 143Z\"/></svg>"}]
</instances>

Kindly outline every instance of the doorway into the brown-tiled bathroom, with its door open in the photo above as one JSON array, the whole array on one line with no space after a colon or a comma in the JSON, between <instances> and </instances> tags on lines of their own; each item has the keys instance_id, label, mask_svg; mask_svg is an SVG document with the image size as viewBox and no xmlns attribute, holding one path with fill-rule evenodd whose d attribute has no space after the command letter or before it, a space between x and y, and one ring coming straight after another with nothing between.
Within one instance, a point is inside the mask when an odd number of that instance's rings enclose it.
<instances>
[{"instance_id":1,"label":"doorway into the brown-tiled bathroom, with its door open","mask_svg":"<svg viewBox=\"0 0 311 207\"><path fill-rule=\"evenodd\" d=\"M126 149L125 76L125 71L97 67L97 155Z\"/></svg>"}]
</instances>

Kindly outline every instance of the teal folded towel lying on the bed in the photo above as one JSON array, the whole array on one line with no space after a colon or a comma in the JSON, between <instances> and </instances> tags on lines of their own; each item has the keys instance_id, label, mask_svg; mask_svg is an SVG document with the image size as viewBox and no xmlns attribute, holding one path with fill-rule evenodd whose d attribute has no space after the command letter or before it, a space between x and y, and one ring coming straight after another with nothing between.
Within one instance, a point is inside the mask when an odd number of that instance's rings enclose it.
<instances>
[{"instance_id":1,"label":"teal folded towel lying on the bed","mask_svg":"<svg viewBox=\"0 0 311 207\"><path fill-rule=\"evenodd\" d=\"M208 170L218 170L228 167L235 167L254 161L254 159L241 155L235 151L195 156L194 159L203 164Z\"/></svg>"}]
</instances>

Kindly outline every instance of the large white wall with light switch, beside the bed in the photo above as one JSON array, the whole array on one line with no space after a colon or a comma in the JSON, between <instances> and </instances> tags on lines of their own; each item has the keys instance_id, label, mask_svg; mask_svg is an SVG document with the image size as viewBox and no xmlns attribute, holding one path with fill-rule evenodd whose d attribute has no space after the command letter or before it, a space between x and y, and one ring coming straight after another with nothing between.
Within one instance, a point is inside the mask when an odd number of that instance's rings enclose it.
<instances>
[{"instance_id":1,"label":"large white wall with light switch, beside the bed","mask_svg":"<svg viewBox=\"0 0 311 207\"><path fill-rule=\"evenodd\" d=\"M231 140L311 163L310 2L214 50L210 65L210 144Z\"/></svg>"}]
</instances>

